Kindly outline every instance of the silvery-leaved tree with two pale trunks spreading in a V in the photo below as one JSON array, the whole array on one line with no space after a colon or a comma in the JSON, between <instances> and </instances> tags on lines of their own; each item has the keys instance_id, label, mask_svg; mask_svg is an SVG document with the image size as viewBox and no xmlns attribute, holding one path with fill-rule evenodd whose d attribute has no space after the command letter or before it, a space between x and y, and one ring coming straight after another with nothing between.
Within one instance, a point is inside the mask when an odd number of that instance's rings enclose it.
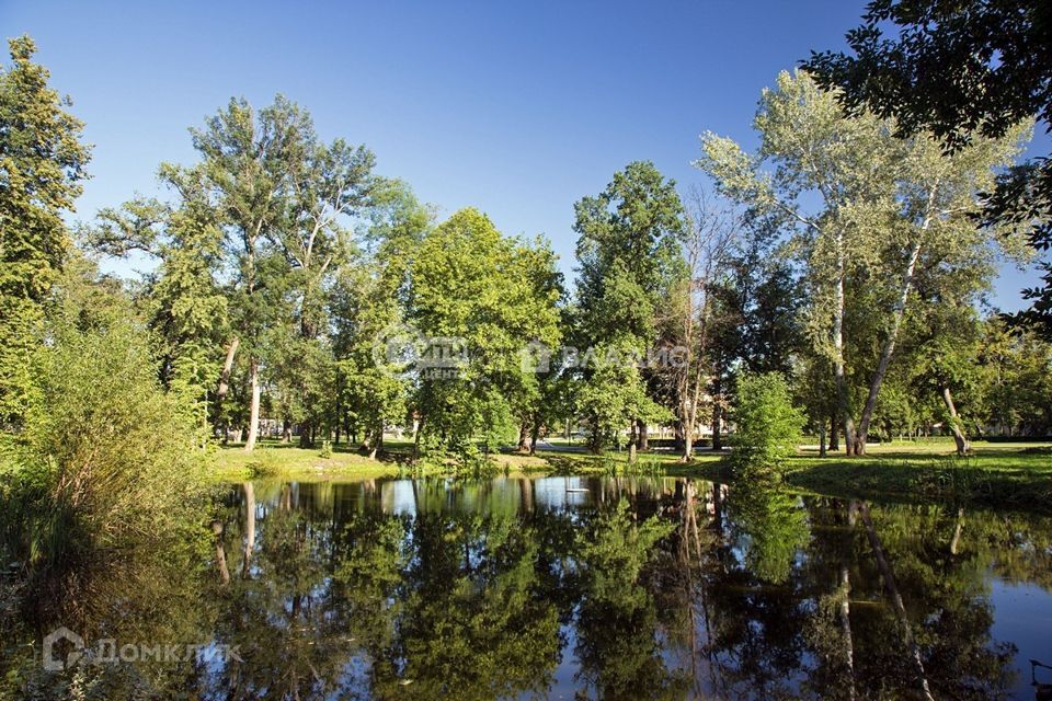
<instances>
[{"instance_id":1,"label":"silvery-leaved tree with two pale trunks spreading in a V","mask_svg":"<svg viewBox=\"0 0 1052 701\"><path fill-rule=\"evenodd\" d=\"M892 123L870 113L845 116L836 96L805 73L782 73L777 90L765 91L756 127L763 137L757 157L709 135L699 165L750 206L797 222L808 252L812 336L833 361L848 453L861 455L903 320L916 301L917 276L954 277L988 258L991 232L977 229L970 215L995 169L1019 152L1024 129L1000 139L976 137L944 158L930 135L899 139ZM758 170L765 161L773 173ZM807 211L804 193L817 194L823 206ZM984 278L973 283L981 288ZM859 415L845 332L860 322L877 322L865 335L881 341L872 366L854 359L868 388Z\"/></svg>"}]
</instances>

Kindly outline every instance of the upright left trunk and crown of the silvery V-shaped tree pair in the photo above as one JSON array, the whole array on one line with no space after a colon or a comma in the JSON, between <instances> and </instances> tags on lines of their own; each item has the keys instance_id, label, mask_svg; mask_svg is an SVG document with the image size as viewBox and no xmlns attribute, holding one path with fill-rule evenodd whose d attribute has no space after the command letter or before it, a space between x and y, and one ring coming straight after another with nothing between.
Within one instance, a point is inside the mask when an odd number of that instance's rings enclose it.
<instances>
[{"instance_id":1,"label":"upright left trunk and crown of the silvery V-shaped tree pair","mask_svg":"<svg viewBox=\"0 0 1052 701\"><path fill-rule=\"evenodd\" d=\"M815 344L833 365L850 452L856 432L845 359L845 286L862 262L858 254L872 251L872 239L879 235L856 226L856 220L880 199L880 184L887 182L893 160L891 143L879 120L870 115L845 118L832 95L802 73L782 72L776 89L764 90L754 125L762 137L755 157L730 139L708 134L696 165L727 195L780 216L812 242L810 275L821 292L813 299L822 317L832 318L832 327L820 325ZM765 161L773 164L773 172L759 170ZM804 198L804 193L817 197Z\"/></svg>"}]
</instances>

